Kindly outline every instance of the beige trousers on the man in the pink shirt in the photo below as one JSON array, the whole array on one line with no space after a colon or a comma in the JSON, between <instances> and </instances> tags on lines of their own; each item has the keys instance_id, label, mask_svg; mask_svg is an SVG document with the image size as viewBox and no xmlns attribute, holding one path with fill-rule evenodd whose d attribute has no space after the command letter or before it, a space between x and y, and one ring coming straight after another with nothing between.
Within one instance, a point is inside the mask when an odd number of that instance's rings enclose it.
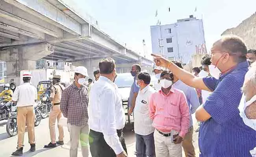
<instances>
[{"instance_id":1,"label":"beige trousers on the man in the pink shirt","mask_svg":"<svg viewBox=\"0 0 256 157\"><path fill-rule=\"evenodd\" d=\"M174 135L178 132L174 131ZM171 137L173 137L171 135ZM156 157L182 157L182 142L174 144L171 137L161 135L157 130L154 132Z\"/></svg>"}]
</instances>

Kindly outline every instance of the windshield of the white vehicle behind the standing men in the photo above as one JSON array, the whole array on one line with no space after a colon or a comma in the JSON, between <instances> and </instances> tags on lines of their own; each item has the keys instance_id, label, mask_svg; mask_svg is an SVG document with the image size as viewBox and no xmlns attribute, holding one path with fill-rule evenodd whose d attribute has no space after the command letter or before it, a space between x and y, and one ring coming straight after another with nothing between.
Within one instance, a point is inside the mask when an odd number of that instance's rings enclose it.
<instances>
[{"instance_id":1,"label":"windshield of the white vehicle behind the standing men","mask_svg":"<svg viewBox=\"0 0 256 157\"><path fill-rule=\"evenodd\" d=\"M134 77L130 73L119 73L115 79L118 88L131 87L133 82Z\"/></svg>"}]
</instances>

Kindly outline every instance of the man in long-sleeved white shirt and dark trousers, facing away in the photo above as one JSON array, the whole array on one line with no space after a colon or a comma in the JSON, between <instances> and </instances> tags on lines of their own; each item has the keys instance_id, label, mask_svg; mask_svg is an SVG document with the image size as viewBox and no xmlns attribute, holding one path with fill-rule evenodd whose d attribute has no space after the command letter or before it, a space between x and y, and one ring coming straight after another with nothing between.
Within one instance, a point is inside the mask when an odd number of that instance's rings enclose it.
<instances>
[{"instance_id":1,"label":"man in long-sleeved white shirt and dark trousers, facing away","mask_svg":"<svg viewBox=\"0 0 256 157\"><path fill-rule=\"evenodd\" d=\"M89 95L89 144L92 157L127 157L122 129L125 125L121 95L114 83L115 60L99 63L100 78Z\"/></svg>"}]
</instances>

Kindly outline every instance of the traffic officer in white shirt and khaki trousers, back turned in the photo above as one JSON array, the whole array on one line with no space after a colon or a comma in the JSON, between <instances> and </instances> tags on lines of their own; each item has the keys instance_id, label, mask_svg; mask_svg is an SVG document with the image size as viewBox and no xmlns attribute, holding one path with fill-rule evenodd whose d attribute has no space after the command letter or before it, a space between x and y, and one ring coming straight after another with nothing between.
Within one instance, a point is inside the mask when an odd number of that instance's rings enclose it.
<instances>
[{"instance_id":1,"label":"traffic officer in white shirt and khaki trousers, back turned","mask_svg":"<svg viewBox=\"0 0 256 157\"><path fill-rule=\"evenodd\" d=\"M23 142L25 126L28 129L28 141L30 151L35 152L35 111L33 105L37 101L37 89L30 84L31 73L25 72L22 75L24 84L18 86L13 93L13 103L17 104L17 126L18 126L18 147L12 155L23 154Z\"/></svg>"}]
</instances>

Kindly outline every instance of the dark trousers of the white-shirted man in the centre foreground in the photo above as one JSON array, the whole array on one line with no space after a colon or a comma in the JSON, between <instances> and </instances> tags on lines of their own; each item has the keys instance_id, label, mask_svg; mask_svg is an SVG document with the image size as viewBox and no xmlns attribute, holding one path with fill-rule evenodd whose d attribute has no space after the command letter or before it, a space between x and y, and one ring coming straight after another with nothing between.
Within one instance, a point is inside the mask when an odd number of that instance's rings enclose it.
<instances>
[{"instance_id":1,"label":"dark trousers of the white-shirted man in the centre foreground","mask_svg":"<svg viewBox=\"0 0 256 157\"><path fill-rule=\"evenodd\" d=\"M122 144L122 148L127 153L124 134L121 130L117 130L117 135ZM90 130L89 133L90 152L92 157L116 157L114 150L106 143L103 133Z\"/></svg>"}]
</instances>

